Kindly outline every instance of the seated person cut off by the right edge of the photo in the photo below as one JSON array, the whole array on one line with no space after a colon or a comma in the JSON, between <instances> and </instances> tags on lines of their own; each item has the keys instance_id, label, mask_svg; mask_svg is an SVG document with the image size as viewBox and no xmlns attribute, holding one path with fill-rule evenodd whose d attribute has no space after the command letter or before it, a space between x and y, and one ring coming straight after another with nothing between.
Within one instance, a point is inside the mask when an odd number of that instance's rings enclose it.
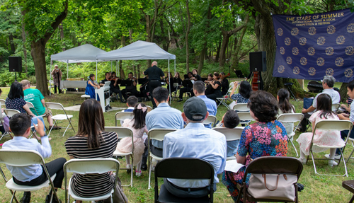
<instances>
[{"instance_id":1,"label":"seated person cut off by the right edge of the photo","mask_svg":"<svg viewBox=\"0 0 354 203\"><path fill-rule=\"evenodd\" d=\"M350 98L354 98L354 80L350 81L347 84L347 95ZM352 105L353 105L353 103L350 104L350 114L349 115L346 113L338 114L338 118L340 120L350 120L351 122L354 123L354 106L352 108ZM346 137L348 137L348 133L349 133L348 130L341 131L341 138L343 140L346 140ZM353 129L351 130L349 137L354 139L354 130ZM326 158L330 158L330 154L326 154L325 156L326 156ZM336 159L341 158L341 151L339 149L336 150L336 155L334 156L334 158L336 158Z\"/></svg>"}]
</instances>

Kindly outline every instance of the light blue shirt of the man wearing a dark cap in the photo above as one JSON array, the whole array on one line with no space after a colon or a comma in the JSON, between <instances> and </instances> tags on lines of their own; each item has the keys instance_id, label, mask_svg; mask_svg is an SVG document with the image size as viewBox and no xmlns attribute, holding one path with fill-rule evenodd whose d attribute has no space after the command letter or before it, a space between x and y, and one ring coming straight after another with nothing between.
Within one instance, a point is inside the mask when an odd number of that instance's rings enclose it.
<instances>
[{"instance_id":1,"label":"light blue shirt of the man wearing a dark cap","mask_svg":"<svg viewBox=\"0 0 354 203\"><path fill-rule=\"evenodd\" d=\"M188 123L184 129L170 132L164 137L164 158L201 158L214 168L214 182L219 182L226 164L226 139L224 134L204 127L202 123ZM178 187L205 187L209 180L169 179Z\"/></svg>"}]
</instances>

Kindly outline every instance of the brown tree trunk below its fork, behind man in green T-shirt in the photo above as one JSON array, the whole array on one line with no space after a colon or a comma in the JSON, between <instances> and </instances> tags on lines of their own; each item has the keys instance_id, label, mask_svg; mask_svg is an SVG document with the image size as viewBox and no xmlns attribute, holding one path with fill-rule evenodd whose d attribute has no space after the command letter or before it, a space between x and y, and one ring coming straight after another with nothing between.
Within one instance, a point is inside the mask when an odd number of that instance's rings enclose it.
<instances>
[{"instance_id":1,"label":"brown tree trunk below its fork, behind man in green T-shirt","mask_svg":"<svg viewBox=\"0 0 354 203\"><path fill-rule=\"evenodd\" d=\"M35 64L35 79L36 86L42 95L49 94L47 83L47 70L45 68L45 40L40 39L37 42L32 41L30 47L32 50L30 54L33 57Z\"/></svg>"}]
</instances>

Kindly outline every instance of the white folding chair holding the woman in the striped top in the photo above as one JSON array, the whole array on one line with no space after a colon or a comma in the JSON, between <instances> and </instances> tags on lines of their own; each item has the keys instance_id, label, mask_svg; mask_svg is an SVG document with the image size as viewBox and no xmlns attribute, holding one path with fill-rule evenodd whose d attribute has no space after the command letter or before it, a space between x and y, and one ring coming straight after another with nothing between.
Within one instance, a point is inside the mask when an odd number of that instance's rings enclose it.
<instances>
[{"instance_id":1,"label":"white folding chair holding the woman in the striped top","mask_svg":"<svg viewBox=\"0 0 354 203\"><path fill-rule=\"evenodd\" d=\"M101 199L108 199L110 197L110 202L113 202L113 193L115 192L115 187L118 182L118 177L115 178L113 190L105 195L98 197L80 197L76 195L72 190L72 178L69 180L69 185L67 183L67 173L79 173L79 174L90 174L90 173L107 173L109 171L119 170L119 161L114 158L73 158L64 164L64 185L65 185L65 202L70 202L70 196L76 200L81 201L97 201ZM101 185L96 185L101 187Z\"/></svg>"}]
</instances>

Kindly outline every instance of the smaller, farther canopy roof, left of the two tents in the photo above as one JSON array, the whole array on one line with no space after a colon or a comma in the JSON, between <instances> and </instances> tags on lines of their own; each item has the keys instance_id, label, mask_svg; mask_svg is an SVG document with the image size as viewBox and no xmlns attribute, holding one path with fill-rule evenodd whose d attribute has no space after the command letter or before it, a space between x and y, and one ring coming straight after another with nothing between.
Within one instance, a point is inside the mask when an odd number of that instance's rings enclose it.
<instances>
[{"instance_id":1,"label":"smaller, farther canopy roof, left of the two tents","mask_svg":"<svg viewBox=\"0 0 354 203\"><path fill-rule=\"evenodd\" d=\"M50 59L52 61L59 61L65 63L81 63L81 62L97 62L98 54L105 54L107 52L94 47L93 45L81 45L79 47L74 47L70 50L66 50L64 52L60 52L58 54L52 54ZM98 60L101 62L103 60Z\"/></svg>"}]
</instances>

